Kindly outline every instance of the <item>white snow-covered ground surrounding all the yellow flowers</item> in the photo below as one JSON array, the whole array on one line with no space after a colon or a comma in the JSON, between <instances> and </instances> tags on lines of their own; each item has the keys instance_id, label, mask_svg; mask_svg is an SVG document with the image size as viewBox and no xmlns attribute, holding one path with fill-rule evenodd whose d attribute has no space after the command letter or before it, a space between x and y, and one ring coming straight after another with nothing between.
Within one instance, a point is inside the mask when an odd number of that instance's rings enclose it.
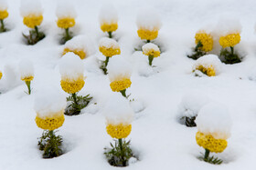
<instances>
[{"instance_id":1,"label":"white snow-covered ground surrounding all the yellow flowers","mask_svg":"<svg viewBox=\"0 0 256 170\"><path fill-rule=\"evenodd\" d=\"M56 25L55 9L59 1L41 0L44 21L40 29L46 38L37 45L26 45L19 13L20 0L8 0L9 17L5 20L11 30L0 34L0 169L1 170L102 170L116 169L108 164L103 148L112 142L105 130L103 107L113 94L107 75L103 75L97 58L103 57L98 42L106 36L101 32L99 14L104 0L72 0L77 10L77 25L71 29L75 35L91 39L95 53L83 60L87 76L80 95L90 94L93 102L82 115L65 116L59 128L63 136L65 154L43 159L37 148L37 137L42 134L35 123L34 99L37 92L48 86L60 87L59 60L64 45L59 45L62 30ZM133 130L128 139L139 161L124 169L247 169L256 168L256 36L254 35L255 0L112 0L118 11L119 28L114 33L121 47L121 56L133 65L132 94L135 114ZM162 28L155 43L163 53L154 59L154 68L148 66L147 56L133 48L142 41L137 36L136 14L141 8L152 8L159 13ZM236 46L242 62L222 65L215 77L196 77L192 74L195 61L187 58L194 45L197 30L206 25L214 28L219 18L240 19L242 25L240 45ZM215 52L215 55L218 55ZM35 78L32 94L20 80L18 63L29 59L34 64ZM8 77L6 76L8 75ZM218 154L222 165L199 161L204 152L196 143L197 127L180 125L177 121L178 105L183 95L197 93L198 99L208 96L229 109L232 119L228 147ZM65 94L63 92L63 94ZM67 95L67 94L65 94ZM68 95L67 95L68 96ZM50 98L50 96L48 96ZM94 105L95 104L95 105ZM117 105L118 106L118 105Z\"/></svg>"}]
</instances>

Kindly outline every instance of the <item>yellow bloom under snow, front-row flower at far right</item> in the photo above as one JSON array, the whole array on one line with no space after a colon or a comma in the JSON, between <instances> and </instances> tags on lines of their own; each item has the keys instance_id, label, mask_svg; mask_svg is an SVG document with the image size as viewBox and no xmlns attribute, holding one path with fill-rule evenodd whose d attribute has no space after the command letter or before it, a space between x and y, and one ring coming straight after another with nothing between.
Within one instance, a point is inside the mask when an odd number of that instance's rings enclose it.
<instances>
[{"instance_id":1,"label":"yellow bloom under snow, front-row flower at far right","mask_svg":"<svg viewBox=\"0 0 256 170\"><path fill-rule=\"evenodd\" d=\"M223 152L228 145L228 142L224 139L215 139L212 135L204 135L201 132L197 132L196 140L197 145L200 145L214 153Z\"/></svg>"}]
</instances>

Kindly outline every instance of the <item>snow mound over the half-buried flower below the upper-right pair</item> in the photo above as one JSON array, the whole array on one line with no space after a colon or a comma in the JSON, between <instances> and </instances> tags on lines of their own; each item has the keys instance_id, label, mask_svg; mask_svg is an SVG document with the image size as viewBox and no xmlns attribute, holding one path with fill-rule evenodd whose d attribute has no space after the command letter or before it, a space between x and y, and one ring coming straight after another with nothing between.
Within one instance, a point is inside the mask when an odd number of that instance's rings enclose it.
<instances>
[{"instance_id":1,"label":"snow mound over the half-buried flower below the upper-right pair","mask_svg":"<svg viewBox=\"0 0 256 170\"><path fill-rule=\"evenodd\" d=\"M204 55L197 59L195 65L193 65L193 70L197 70L197 68L202 65L205 68L214 69L215 75L219 75L221 72L222 63L219 60L217 55Z\"/></svg>"}]
</instances>

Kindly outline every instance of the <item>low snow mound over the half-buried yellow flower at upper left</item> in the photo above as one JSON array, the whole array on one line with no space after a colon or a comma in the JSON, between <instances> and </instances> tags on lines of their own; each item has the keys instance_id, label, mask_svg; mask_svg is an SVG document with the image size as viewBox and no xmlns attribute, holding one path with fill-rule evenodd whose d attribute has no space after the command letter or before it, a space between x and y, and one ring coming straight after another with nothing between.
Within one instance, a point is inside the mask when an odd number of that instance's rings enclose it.
<instances>
[{"instance_id":1,"label":"low snow mound over the half-buried yellow flower at upper left","mask_svg":"<svg viewBox=\"0 0 256 170\"><path fill-rule=\"evenodd\" d=\"M82 50L86 56L91 55L95 51L91 40L86 35L73 37L64 45L64 50L65 49L69 49L70 51Z\"/></svg>"}]
</instances>

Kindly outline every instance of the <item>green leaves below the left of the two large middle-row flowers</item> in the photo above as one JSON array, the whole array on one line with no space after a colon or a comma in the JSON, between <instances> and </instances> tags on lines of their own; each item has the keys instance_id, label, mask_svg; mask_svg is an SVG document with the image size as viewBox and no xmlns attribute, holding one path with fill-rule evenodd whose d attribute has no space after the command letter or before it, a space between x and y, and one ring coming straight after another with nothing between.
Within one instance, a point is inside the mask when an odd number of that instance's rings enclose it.
<instances>
[{"instance_id":1,"label":"green leaves below the left of the two large middle-row flowers","mask_svg":"<svg viewBox=\"0 0 256 170\"><path fill-rule=\"evenodd\" d=\"M65 110L65 115L80 115L80 110L86 107L91 102L92 97L90 95L82 96L72 94L67 97L67 101L71 102Z\"/></svg>"}]
</instances>

